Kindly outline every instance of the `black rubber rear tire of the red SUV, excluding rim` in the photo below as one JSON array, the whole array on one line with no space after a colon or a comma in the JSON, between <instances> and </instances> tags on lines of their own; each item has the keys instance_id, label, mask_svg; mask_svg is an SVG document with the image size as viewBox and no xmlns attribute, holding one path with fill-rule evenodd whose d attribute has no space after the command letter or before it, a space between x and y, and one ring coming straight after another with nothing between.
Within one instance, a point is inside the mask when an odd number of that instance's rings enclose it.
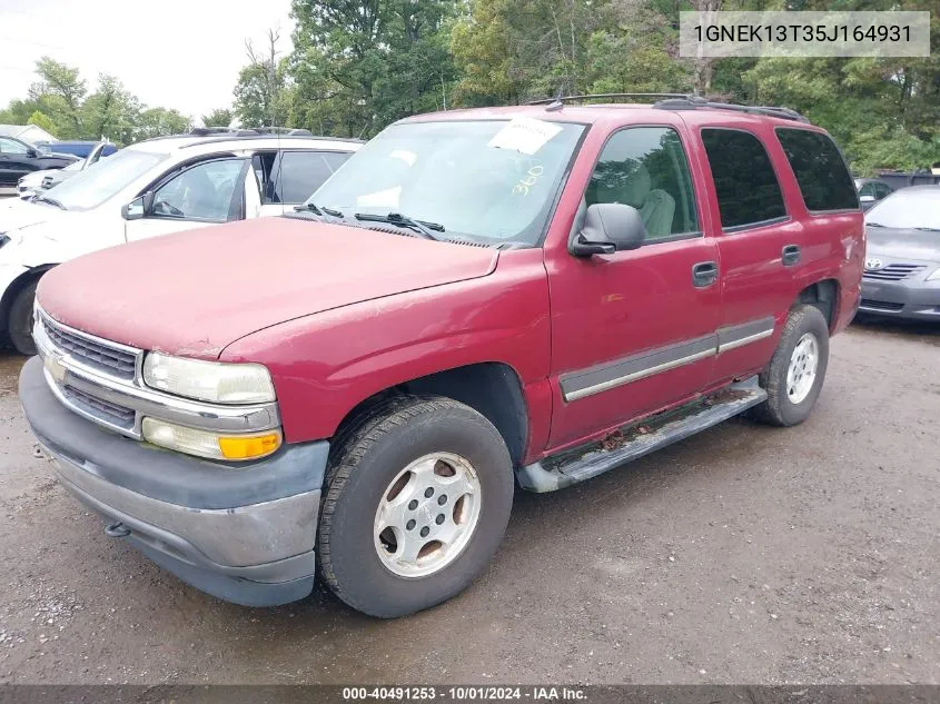
<instances>
[{"instance_id":1,"label":"black rubber rear tire of the red SUV, excluding rim","mask_svg":"<svg viewBox=\"0 0 940 704\"><path fill-rule=\"evenodd\" d=\"M815 380L807 397L799 404L794 404L786 388L786 371L794 348L808 334L815 337L819 350ZM829 326L825 317L814 306L796 306L786 318L783 334L770 364L761 371L760 384L766 390L768 399L754 408L753 417L761 423L775 426L798 425L809 418L822 390L828 366Z\"/></svg>"}]
</instances>

